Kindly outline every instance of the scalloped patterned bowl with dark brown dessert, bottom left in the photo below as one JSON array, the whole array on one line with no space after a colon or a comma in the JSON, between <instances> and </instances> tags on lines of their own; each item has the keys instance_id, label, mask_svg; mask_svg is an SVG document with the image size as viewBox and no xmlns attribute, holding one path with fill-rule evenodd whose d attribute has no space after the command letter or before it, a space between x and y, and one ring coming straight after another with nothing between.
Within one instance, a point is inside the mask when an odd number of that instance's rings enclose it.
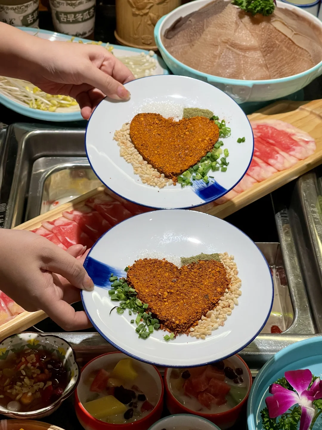
<instances>
[{"instance_id":1,"label":"scalloped patterned bowl with dark brown dessert, bottom left","mask_svg":"<svg viewBox=\"0 0 322 430\"><path fill-rule=\"evenodd\" d=\"M32 370L34 368L36 370ZM29 369L32 375L28 377ZM24 420L51 415L73 393L80 379L79 366L70 344L58 336L33 332L18 333L1 342L0 372L0 414ZM39 381L42 379L41 384ZM12 387L8 390L9 384ZM40 387L33 392L37 384ZM23 393L18 393L15 387ZM27 387L31 390L26 391ZM20 401L24 394L29 403ZM10 410L6 407L9 403Z\"/></svg>"}]
</instances>

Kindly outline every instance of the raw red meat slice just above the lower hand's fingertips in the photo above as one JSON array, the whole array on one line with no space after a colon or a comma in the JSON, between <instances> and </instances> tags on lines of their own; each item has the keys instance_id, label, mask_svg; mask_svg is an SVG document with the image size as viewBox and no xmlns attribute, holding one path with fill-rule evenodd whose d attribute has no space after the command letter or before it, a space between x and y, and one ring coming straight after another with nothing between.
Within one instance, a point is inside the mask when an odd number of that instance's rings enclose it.
<instances>
[{"instance_id":1,"label":"raw red meat slice just above the lower hand's fingertips","mask_svg":"<svg viewBox=\"0 0 322 430\"><path fill-rule=\"evenodd\" d=\"M75 221L70 221L64 216L54 221L43 221L42 224L47 230L55 233L66 248L79 243L83 246L87 246L87 248L91 248L94 245L94 242L80 229Z\"/></svg>"}]
</instances>

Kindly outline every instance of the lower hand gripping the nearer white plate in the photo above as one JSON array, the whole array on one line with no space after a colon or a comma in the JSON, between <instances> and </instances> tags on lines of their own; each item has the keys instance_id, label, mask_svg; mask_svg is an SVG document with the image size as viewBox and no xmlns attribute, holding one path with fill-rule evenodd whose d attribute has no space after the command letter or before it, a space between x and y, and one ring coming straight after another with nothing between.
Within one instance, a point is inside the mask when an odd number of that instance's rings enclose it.
<instances>
[{"instance_id":1,"label":"lower hand gripping the nearer white plate","mask_svg":"<svg viewBox=\"0 0 322 430\"><path fill-rule=\"evenodd\" d=\"M94 289L82 245L66 252L30 231L7 229L0 229L0 245L1 291L29 312L45 311L64 330L91 327L85 311L70 306L82 289Z\"/></svg>"}]
</instances>

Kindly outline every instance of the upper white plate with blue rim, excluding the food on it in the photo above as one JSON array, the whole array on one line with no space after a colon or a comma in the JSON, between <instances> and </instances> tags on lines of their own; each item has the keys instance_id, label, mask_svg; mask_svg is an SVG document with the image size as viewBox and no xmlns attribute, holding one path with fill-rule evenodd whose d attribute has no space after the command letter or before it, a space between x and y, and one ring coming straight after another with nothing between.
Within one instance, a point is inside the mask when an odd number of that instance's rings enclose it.
<instances>
[{"instance_id":1,"label":"upper white plate with blue rim, excluding the food on it","mask_svg":"<svg viewBox=\"0 0 322 430\"><path fill-rule=\"evenodd\" d=\"M200 80L163 75L137 79L126 84L131 92L127 102L105 98L97 106L86 128L85 146L89 162L100 181L114 193L157 209L192 208L218 199L238 184L252 160L254 138L244 112L227 94ZM133 167L120 157L113 136L116 130L140 112L149 112L149 104L172 104L176 108L210 109L231 128L231 136L220 138L229 151L226 172L212 172L214 183L194 181L193 186L166 186L159 190L143 184ZM159 105L158 105L159 106ZM245 142L237 143L239 137Z\"/></svg>"}]
</instances>

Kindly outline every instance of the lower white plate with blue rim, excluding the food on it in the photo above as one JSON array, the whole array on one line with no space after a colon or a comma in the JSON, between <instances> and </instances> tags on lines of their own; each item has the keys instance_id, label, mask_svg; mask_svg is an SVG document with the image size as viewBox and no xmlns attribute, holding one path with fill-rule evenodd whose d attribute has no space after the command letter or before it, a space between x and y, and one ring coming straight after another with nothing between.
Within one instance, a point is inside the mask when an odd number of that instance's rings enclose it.
<instances>
[{"instance_id":1,"label":"lower white plate with blue rim, excluding the food on it","mask_svg":"<svg viewBox=\"0 0 322 430\"><path fill-rule=\"evenodd\" d=\"M228 252L239 270L242 295L224 326L205 339L155 330L138 337L137 315L117 313L110 277L126 277L125 268L138 258L166 258L179 265L180 257ZM219 218L197 211L160 210L128 218L108 230L92 247L84 267L94 291L82 291L82 302L94 328L110 344L129 356L161 366L189 367L222 360L242 350L261 332L273 304L270 268L254 242ZM115 281L113 281L115 282ZM113 310L112 310L113 309Z\"/></svg>"}]
</instances>

